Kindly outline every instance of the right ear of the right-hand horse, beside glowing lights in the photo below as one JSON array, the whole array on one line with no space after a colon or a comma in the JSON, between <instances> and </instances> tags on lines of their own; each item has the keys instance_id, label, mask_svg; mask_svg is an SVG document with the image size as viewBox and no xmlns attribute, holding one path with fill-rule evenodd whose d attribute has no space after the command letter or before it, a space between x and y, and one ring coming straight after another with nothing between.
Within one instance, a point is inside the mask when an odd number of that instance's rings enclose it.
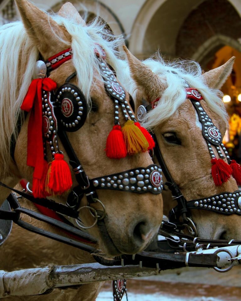
<instances>
[{"instance_id":1,"label":"right ear of the right-hand horse, beside glowing lights","mask_svg":"<svg viewBox=\"0 0 241 301\"><path fill-rule=\"evenodd\" d=\"M231 57L225 64L201 75L206 84L213 89L220 89L226 82L233 69L235 56Z\"/></svg>"}]
</instances>

